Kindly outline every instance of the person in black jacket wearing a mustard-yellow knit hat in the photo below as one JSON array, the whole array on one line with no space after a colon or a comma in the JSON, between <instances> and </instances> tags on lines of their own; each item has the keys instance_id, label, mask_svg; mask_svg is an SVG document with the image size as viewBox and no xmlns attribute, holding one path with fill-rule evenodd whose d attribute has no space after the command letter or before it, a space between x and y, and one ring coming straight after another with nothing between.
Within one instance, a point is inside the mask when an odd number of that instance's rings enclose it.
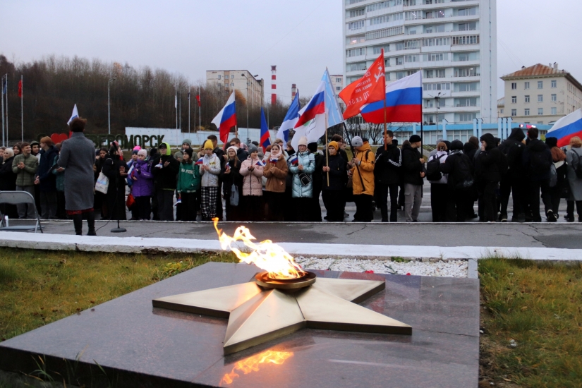
<instances>
[{"instance_id":1,"label":"person in black jacket wearing a mustard-yellow knit hat","mask_svg":"<svg viewBox=\"0 0 582 388\"><path fill-rule=\"evenodd\" d=\"M327 165L322 167L322 199L328 222L344 222L344 207L346 207L346 160L338 153L339 144L335 141L327 143ZM329 185L327 178L329 176Z\"/></svg>"}]
</instances>

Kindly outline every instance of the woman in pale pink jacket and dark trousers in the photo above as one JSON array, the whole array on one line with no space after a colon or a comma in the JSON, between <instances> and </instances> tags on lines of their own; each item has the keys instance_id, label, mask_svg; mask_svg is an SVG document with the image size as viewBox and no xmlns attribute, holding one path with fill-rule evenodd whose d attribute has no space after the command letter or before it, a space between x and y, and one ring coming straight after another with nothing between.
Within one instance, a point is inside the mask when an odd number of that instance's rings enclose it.
<instances>
[{"instance_id":1,"label":"woman in pale pink jacket and dark trousers","mask_svg":"<svg viewBox=\"0 0 582 388\"><path fill-rule=\"evenodd\" d=\"M262 171L265 163L259 159L255 145L248 147L249 157L241 164L243 176L243 207L246 221L262 221Z\"/></svg>"}]
</instances>

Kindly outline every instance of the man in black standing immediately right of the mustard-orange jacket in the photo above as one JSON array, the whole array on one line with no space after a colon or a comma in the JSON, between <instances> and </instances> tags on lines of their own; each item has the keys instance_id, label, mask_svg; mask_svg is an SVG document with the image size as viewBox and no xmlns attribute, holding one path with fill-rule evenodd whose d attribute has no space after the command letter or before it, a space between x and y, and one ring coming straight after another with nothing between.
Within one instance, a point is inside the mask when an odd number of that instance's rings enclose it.
<instances>
[{"instance_id":1,"label":"man in black standing immediately right of the mustard-orange jacket","mask_svg":"<svg viewBox=\"0 0 582 388\"><path fill-rule=\"evenodd\" d=\"M390 222L398 221L398 186L400 183L400 169L402 166L402 153L399 147L392 142L394 133L387 131L384 136L384 147L376 150L376 164L374 176L377 190L377 204L382 212L382 222L388 222L388 190L390 190Z\"/></svg>"}]
</instances>

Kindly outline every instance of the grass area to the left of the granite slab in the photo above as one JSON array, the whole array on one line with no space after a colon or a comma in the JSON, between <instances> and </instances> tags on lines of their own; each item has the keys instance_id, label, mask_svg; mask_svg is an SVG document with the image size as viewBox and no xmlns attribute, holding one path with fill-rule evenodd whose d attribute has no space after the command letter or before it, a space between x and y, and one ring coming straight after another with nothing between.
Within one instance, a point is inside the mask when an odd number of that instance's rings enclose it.
<instances>
[{"instance_id":1,"label":"grass area to the left of the granite slab","mask_svg":"<svg viewBox=\"0 0 582 388\"><path fill-rule=\"evenodd\" d=\"M232 253L134 255L0 248L0 340Z\"/></svg>"}]
</instances>

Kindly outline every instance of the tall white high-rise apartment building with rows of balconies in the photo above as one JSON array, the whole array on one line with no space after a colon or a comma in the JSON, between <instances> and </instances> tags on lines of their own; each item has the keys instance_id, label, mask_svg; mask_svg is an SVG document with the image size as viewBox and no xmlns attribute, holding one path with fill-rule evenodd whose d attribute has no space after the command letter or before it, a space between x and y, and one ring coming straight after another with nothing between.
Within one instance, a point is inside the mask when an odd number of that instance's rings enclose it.
<instances>
[{"instance_id":1,"label":"tall white high-rise apartment building with rows of balconies","mask_svg":"<svg viewBox=\"0 0 582 388\"><path fill-rule=\"evenodd\" d=\"M343 1L346 85L384 49L387 83L423 71L423 121L497 121L496 0Z\"/></svg>"}]
</instances>

